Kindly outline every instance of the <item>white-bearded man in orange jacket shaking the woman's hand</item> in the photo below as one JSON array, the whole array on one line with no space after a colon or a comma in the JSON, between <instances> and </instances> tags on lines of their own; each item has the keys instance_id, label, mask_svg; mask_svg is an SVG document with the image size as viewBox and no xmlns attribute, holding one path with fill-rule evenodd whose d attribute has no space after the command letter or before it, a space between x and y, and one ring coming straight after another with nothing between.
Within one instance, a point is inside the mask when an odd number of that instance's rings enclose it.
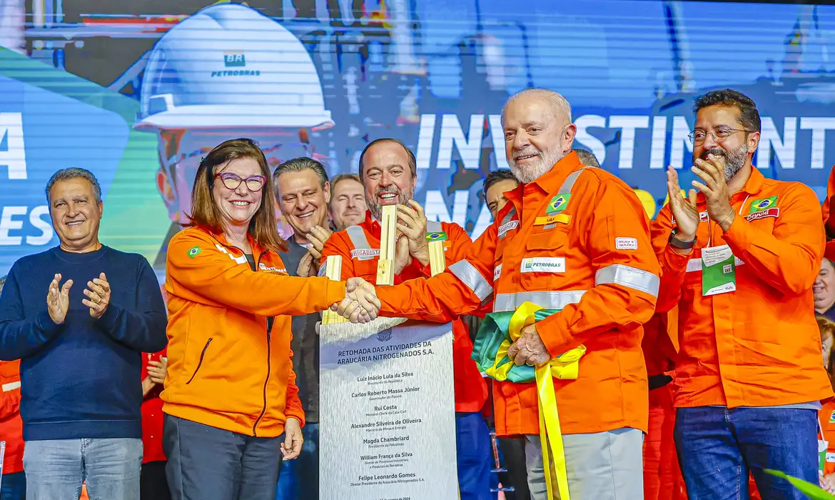
<instances>
[{"instance_id":1,"label":"white-bearded man in orange jacket shaking the woman's hand","mask_svg":"<svg viewBox=\"0 0 835 500\"><path fill-rule=\"evenodd\" d=\"M584 344L578 378L554 379L571 498L641 498L648 408L641 325L655 309L660 273L649 221L629 186L571 151L576 127L562 95L523 90L502 120L520 181L504 193L509 203L447 272L378 288L380 314L448 321L491 293L496 312L526 301L561 309L526 327L509 357L543 365ZM531 496L544 499L536 385L498 386L497 434L526 437Z\"/></svg>"}]
</instances>

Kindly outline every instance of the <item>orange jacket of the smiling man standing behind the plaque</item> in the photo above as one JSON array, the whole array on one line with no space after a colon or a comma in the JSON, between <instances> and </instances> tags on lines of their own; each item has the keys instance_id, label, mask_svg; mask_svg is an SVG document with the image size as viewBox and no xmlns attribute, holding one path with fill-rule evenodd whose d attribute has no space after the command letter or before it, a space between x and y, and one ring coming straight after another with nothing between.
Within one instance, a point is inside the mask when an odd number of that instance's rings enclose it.
<instances>
[{"instance_id":1,"label":"orange jacket of the smiling man standing behind the plaque","mask_svg":"<svg viewBox=\"0 0 835 500\"><path fill-rule=\"evenodd\" d=\"M458 224L433 222L427 224L427 232L445 232L444 257L447 265L456 263L467 255L473 242ZM366 212L366 219L357 226L331 235L322 250L322 258L342 256L342 279L363 278L368 283L377 279L377 261L380 259L380 224ZM324 261L323 261L324 262ZM322 266L320 273L325 267ZM431 276L429 265L422 266L417 259L395 276L395 283L407 279ZM453 378L455 382L455 411L473 413L481 411L487 401L487 383L472 358L473 340L469 329L461 319L453 321Z\"/></svg>"}]
</instances>

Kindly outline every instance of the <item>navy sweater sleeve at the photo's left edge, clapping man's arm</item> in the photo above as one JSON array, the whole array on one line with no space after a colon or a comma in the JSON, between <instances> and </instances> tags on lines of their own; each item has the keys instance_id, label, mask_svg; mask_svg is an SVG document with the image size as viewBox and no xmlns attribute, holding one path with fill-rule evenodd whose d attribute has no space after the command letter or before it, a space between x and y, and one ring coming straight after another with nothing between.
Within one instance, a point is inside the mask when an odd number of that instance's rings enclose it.
<instances>
[{"instance_id":1,"label":"navy sweater sleeve at the photo's left edge, clapping man's arm","mask_svg":"<svg viewBox=\"0 0 835 500\"><path fill-rule=\"evenodd\" d=\"M43 291L43 304L48 289ZM49 313L42 311L27 318L23 312L17 268L12 267L0 293L0 360L19 360L42 349L61 331Z\"/></svg>"}]
</instances>

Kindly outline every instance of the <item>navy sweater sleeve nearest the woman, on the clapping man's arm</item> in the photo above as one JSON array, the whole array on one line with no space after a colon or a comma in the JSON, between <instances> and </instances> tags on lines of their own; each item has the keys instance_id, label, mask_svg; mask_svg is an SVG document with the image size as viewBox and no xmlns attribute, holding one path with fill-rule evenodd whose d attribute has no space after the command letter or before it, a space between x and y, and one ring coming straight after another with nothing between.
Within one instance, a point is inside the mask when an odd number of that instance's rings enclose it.
<instances>
[{"instance_id":1,"label":"navy sweater sleeve nearest the woman, on the clapping man's arm","mask_svg":"<svg viewBox=\"0 0 835 500\"><path fill-rule=\"evenodd\" d=\"M138 258L136 310L129 311L109 304L97 326L115 340L140 352L155 353L164 349L168 339L165 327L165 304L154 270L144 258ZM110 283L110 288L120 283Z\"/></svg>"}]
</instances>

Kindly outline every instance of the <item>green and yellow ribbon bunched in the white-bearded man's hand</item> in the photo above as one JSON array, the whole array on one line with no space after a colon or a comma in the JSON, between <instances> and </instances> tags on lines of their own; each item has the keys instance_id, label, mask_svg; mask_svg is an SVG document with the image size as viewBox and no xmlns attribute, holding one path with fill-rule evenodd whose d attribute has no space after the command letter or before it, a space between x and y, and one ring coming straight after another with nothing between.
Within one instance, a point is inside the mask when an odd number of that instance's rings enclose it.
<instances>
[{"instance_id":1,"label":"green and yellow ribbon bunched in the white-bearded man's hand","mask_svg":"<svg viewBox=\"0 0 835 500\"><path fill-rule=\"evenodd\" d=\"M561 380L576 379L579 375L579 360L585 354L585 346L570 349L549 363L535 368L529 365L518 366L508 357L508 349L519 339L526 326L558 312L559 309L543 309L536 304L525 302L515 311L487 314L476 334L473 360L476 361L479 370L495 380L509 380L515 383L536 381L539 395L539 443L542 446L548 497L549 500L554 499L556 482L560 500L570 500L554 377ZM552 454L555 478L551 475Z\"/></svg>"}]
</instances>

